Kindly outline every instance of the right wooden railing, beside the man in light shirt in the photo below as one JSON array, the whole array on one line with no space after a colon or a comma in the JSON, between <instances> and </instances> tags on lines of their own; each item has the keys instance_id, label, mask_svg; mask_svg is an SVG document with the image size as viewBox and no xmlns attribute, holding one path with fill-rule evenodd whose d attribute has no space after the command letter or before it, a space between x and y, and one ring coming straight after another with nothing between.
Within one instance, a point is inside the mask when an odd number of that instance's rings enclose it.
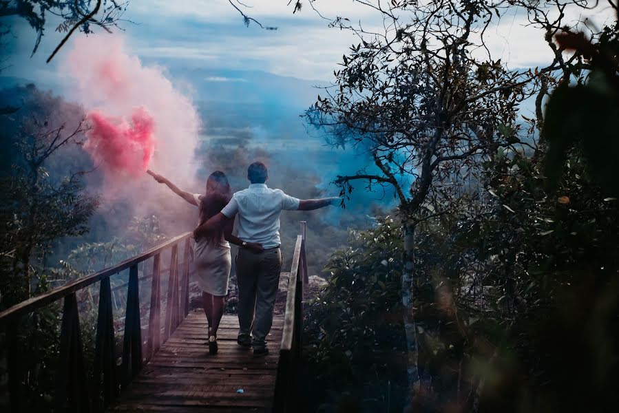
<instances>
[{"instance_id":1,"label":"right wooden railing, beside the man in light shirt","mask_svg":"<svg viewBox=\"0 0 619 413\"><path fill-rule=\"evenodd\" d=\"M288 280L284 331L280 347L280 361L275 379L273 412L298 412L299 370L301 363L301 333L303 328L303 290L308 281L305 253L306 222L301 222L301 234L297 236L293 264Z\"/></svg>"}]
</instances>

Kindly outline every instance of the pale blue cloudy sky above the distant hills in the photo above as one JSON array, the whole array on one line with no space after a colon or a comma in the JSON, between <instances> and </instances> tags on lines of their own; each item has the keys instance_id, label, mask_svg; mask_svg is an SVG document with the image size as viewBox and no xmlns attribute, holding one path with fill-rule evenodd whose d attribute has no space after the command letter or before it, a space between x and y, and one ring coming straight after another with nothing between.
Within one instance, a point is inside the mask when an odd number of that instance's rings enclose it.
<instances>
[{"instance_id":1,"label":"pale blue cloudy sky above the distant hills","mask_svg":"<svg viewBox=\"0 0 619 413\"><path fill-rule=\"evenodd\" d=\"M350 32L329 28L328 20L314 12L307 1L296 14L286 0L243 3L251 7L235 4L250 17L277 30L262 30L253 22L246 28L238 10L227 0L132 0L123 16L127 21L120 25L132 50L147 62L165 67L259 70L309 81L329 81L347 47L358 43ZM350 21L361 21L365 28L381 24L375 10L353 0L316 0L314 4L329 19L348 17ZM585 15L574 12L572 17ZM609 17L609 10L602 8L587 17L602 23ZM3 76L41 80L56 76L57 61L61 58L50 65L45 64L45 59L61 39L54 32L57 24L58 21L49 19L39 52L31 58L34 33L23 21L14 21L15 36L8 39L6 48L12 66ZM510 67L543 65L549 56L543 35L527 27L522 10L510 12L493 25L487 44L492 54L507 61ZM242 79L212 76L206 81Z\"/></svg>"}]
</instances>

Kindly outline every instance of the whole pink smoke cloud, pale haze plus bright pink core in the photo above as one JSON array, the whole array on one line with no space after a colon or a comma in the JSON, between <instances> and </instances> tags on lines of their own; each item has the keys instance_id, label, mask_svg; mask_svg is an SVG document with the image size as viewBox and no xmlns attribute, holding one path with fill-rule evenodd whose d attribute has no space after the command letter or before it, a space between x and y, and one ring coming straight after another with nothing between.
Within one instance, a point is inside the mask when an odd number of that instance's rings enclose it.
<instances>
[{"instance_id":1,"label":"whole pink smoke cloud, pale haze plus bright pink core","mask_svg":"<svg viewBox=\"0 0 619 413\"><path fill-rule=\"evenodd\" d=\"M189 190L202 186L194 162L200 116L191 98L119 34L75 36L65 56L63 95L87 113L84 149L96 167L87 179L90 191L103 193L107 224L123 228L132 216L158 215L171 235L191 229L195 207L144 173L148 167Z\"/></svg>"}]
</instances>

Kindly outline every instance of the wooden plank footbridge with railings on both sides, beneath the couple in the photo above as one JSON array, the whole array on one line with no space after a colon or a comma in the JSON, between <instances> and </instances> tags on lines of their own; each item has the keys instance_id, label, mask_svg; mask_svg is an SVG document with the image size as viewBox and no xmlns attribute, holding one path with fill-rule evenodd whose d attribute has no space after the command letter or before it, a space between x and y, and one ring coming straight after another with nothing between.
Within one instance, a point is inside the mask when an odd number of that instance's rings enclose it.
<instances>
[{"instance_id":1,"label":"wooden plank footbridge with railings on both sides, beneath the couple","mask_svg":"<svg viewBox=\"0 0 619 413\"><path fill-rule=\"evenodd\" d=\"M208 354L206 317L202 310L189 310L191 233L3 311L0 327L7 344L10 412L24 412L27 396L18 349L20 321L61 299L59 367L54 375L56 412L300 411L295 403L307 280L305 233L306 223L301 222L285 313L273 321L267 337L271 354L266 357L253 358L251 350L236 344L235 315L224 315L218 330L220 350L214 356ZM114 328L118 318L114 317L110 277L127 270L122 350L116 351L120 332ZM78 294L96 284L94 360L86 368ZM150 289L149 297L140 300L140 289L145 287Z\"/></svg>"}]
</instances>

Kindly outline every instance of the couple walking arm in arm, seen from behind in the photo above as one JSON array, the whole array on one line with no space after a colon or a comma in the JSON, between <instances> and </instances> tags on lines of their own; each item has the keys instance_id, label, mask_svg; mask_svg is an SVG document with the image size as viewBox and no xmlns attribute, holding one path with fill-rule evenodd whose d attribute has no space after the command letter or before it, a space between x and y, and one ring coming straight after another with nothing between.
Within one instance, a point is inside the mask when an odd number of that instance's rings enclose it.
<instances>
[{"instance_id":1,"label":"couple walking arm in arm, seen from behind","mask_svg":"<svg viewBox=\"0 0 619 413\"><path fill-rule=\"evenodd\" d=\"M193 231L193 262L209 321L209 352L216 354L218 349L217 329L228 293L231 242L239 246L235 258L239 293L237 343L253 347L255 357L269 354L266 336L273 324L282 268L280 213L323 208L339 203L339 198L299 200L280 189L270 189L266 186L269 173L262 162L249 165L249 188L234 194L221 171L211 173L204 195L182 191L163 176L155 174L154 178L200 211L198 227ZM235 215L237 235L232 234Z\"/></svg>"}]
</instances>

